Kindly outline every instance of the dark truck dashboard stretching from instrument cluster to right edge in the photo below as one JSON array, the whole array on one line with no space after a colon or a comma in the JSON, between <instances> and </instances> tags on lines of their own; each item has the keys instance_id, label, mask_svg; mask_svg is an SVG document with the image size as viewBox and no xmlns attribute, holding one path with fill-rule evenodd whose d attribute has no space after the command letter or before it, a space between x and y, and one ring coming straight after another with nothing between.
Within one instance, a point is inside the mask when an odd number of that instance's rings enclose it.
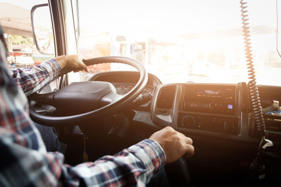
<instances>
[{"instance_id":1,"label":"dark truck dashboard stretching from instrument cluster to right edge","mask_svg":"<svg viewBox=\"0 0 281 187\"><path fill-rule=\"evenodd\" d=\"M91 81L111 82L119 95L130 91L139 79L138 72L103 72ZM256 125L245 110L248 92L242 84L172 83L162 84L154 75L141 94L150 92L153 99L134 110L133 123L144 126L171 126L188 135L223 138L248 143L257 142ZM259 86L263 107L273 100L281 102L281 88ZM269 135L281 141L281 121L265 119Z\"/></svg>"}]
</instances>

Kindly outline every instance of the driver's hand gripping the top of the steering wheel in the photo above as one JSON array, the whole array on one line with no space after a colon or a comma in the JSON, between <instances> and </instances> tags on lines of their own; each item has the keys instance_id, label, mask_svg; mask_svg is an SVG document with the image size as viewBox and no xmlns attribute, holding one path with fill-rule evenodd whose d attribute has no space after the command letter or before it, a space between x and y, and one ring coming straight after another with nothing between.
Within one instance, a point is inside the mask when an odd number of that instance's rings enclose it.
<instances>
[{"instance_id":1,"label":"driver's hand gripping the top of the steering wheel","mask_svg":"<svg viewBox=\"0 0 281 187\"><path fill-rule=\"evenodd\" d=\"M82 70L90 72L87 65L85 65L82 61L84 60L82 55L63 55L55 58L55 60L59 63L61 69L70 68L74 72L79 72Z\"/></svg>"}]
</instances>

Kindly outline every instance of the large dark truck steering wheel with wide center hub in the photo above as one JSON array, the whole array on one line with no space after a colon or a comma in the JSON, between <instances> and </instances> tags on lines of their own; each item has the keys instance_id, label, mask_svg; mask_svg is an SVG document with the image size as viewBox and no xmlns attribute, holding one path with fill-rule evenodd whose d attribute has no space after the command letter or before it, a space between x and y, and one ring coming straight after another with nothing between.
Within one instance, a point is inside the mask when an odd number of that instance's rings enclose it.
<instances>
[{"instance_id":1,"label":"large dark truck steering wheel with wide center hub","mask_svg":"<svg viewBox=\"0 0 281 187\"><path fill-rule=\"evenodd\" d=\"M143 64L133 58L107 56L83 60L89 66L99 63L118 62L132 65L140 73L139 81L136 86L124 96L116 93L116 88L109 82L85 81L76 82L65 86L51 93L33 93L28 97L30 103L31 119L45 126L73 126L89 125L97 118L110 116L124 110L135 98L139 96L147 83L147 72ZM63 73L70 69L64 69ZM67 111L70 108L78 114L69 116L50 116L42 115L44 111L36 110L36 106L45 105L60 111ZM51 106L50 106L51 105ZM54 107L52 107L54 106ZM41 108L41 107L40 107ZM48 110L49 111L49 110ZM46 113L46 111L45 111Z\"/></svg>"}]
</instances>

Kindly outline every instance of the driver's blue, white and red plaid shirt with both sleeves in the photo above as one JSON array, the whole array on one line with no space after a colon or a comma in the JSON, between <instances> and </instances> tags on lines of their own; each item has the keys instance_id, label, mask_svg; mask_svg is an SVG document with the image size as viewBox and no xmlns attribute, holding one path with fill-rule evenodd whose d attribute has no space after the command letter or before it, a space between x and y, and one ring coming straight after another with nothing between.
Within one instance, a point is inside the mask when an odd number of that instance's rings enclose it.
<instances>
[{"instance_id":1,"label":"driver's blue, white and red plaid shirt with both sleeves","mask_svg":"<svg viewBox=\"0 0 281 187\"><path fill-rule=\"evenodd\" d=\"M0 42L0 186L144 186L166 160L161 146L151 139L114 156L75 167L63 163L59 152L47 152L31 121L29 95L55 79L59 64L49 60L34 67L13 70L11 78Z\"/></svg>"}]
</instances>

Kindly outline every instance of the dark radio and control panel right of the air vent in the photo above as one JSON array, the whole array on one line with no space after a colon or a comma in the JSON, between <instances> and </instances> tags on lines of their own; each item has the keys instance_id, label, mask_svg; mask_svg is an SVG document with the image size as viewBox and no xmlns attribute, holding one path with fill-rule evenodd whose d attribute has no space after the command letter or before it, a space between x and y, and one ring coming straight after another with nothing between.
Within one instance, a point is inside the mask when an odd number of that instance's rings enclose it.
<instances>
[{"instance_id":1,"label":"dark radio and control panel right of the air vent","mask_svg":"<svg viewBox=\"0 0 281 187\"><path fill-rule=\"evenodd\" d=\"M235 86L186 85L182 88L178 127L238 134Z\"/></svg>"}]
</instances>

